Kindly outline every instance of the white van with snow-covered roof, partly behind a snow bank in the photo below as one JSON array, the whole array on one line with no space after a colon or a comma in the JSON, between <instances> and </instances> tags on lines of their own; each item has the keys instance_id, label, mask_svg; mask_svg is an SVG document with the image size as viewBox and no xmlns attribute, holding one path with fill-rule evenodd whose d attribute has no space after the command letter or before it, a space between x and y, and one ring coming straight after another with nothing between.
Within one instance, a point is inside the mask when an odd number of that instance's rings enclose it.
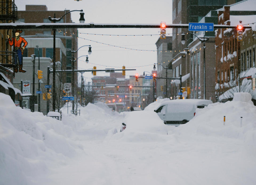
<instances>
[{"instance_id":1,"label":"white van with snow-covered roof, partly behind a snow bank","mask_svg":"<svg viewBox=\"0 0 256 185\"><path fill-rule=\"evenodd\" d=\"M163 102L156 110L166 124L185 124L195 116L196 108L213 103L204 99L176 99Z\"/></svg>"}]
</instances>

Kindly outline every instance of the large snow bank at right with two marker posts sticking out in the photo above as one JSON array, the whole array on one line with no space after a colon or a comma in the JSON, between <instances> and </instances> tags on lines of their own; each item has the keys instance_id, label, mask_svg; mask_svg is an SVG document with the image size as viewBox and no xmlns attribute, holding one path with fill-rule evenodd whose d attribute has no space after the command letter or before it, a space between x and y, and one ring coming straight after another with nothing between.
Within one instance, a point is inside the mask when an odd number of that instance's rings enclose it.
<instances>
[{"instance_id":1,"label":"large snow bank at right with two marker posts sticking out","mask_svg":"<svg viewBox=\"0 0 256 185\"><path fill-rule=\"evenodd\" d=\"M225 117L225 125L223 118ZM241 127L242 117L242 127ZM193 119L177 128L182 135L224 136L242 139L256 151L256 106L250 93L234 93L234 100L196 109ZM248 139L250 138L250 139Z\"/></svg>"}]
</instances>

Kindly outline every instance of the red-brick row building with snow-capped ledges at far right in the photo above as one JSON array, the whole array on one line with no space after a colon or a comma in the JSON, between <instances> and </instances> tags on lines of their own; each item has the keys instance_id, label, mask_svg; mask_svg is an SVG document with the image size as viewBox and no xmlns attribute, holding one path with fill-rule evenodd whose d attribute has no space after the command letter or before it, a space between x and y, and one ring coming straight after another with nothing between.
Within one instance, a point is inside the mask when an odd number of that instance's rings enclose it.
<instances>
[{"instance_id":1,"label":"red-brick row building with snow-capped ledges at far right","mask_svg":"<svg viewBox=\"0 0 256 185\"><path fill-rule=\"evenodd\" d=\"M254 4L255 1L247 0L224 6L218 10L218 24L238 25L242 21L242 24L247 25L255 22ZM241 85L244 78L251 80L251 75L254 74L246 72L255 67L256 42L255 30L251 29L244 30L243 40L240 42L237 41L236 29L218 29L215 34L215 91L216 99L220 101L233 98L233 93L237 91L234 87ZM241 86L239 89L244 91Z\"/></svg>"}]
</instances>

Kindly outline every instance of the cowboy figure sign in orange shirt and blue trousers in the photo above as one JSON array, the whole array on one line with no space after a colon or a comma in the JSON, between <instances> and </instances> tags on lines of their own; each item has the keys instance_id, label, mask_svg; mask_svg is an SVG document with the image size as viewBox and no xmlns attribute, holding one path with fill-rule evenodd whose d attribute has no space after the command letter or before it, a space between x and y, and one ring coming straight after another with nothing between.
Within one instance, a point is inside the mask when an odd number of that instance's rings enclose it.
<instances>
[{"instance_id":1,"label":"cowboy figure sign in orange shirt and blue trousers","mask_svg":"<svg viewBox=\"0 0 256 185\"><path fill-rule=\"evenodd\" d=\"M21 33L22 33L22 30L15 30L15 39L14 38L10 39L10 35L7 35L7 38L10 46L13 46L13 51L18 55L19 72L25 73L26 70L22 69L22 65L23 65L22 55L23 55L23 51L25 50L25 47L27 46L27 41L23 37L20 37L19 34ZM24 43L23 46L21 46L22 43ZM14 71L15 73L18 73L17 57L14 57L14 65L16 65L16 67L14 67Z\"/></svg>"}]
</instances>

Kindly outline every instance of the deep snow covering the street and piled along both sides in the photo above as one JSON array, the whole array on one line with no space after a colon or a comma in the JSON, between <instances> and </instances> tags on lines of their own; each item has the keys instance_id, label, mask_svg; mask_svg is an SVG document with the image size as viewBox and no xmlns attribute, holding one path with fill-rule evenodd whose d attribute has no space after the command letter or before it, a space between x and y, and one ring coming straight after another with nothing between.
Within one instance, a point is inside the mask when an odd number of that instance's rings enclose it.
<instances>
[{"instance_id":1,"label":"deep snow covering the street and piled along both sides","mask_svg":"<svg viewBox=\"0 0 256 185\"><path fill-rule=\"evenodd\" d=\"M255 184L256 108L245 99L197 109L164 135L119 132L123 113L103 103L77 117L64 108L58 121L0 93L0 184Z\"/></svg>"}]
</instances>

